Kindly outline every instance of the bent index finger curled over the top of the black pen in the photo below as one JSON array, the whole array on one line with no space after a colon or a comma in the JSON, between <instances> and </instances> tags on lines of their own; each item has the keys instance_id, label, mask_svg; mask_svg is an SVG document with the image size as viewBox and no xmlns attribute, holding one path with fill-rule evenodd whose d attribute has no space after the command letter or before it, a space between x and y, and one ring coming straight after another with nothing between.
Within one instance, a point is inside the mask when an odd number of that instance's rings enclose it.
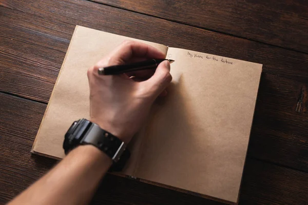
<instances>
[{"instance_id":1,"label":"bent index finger curled over the top of the black pen","mask_svg":"<svg viewBox=\"0 0 308 205\"><path fill-rule=\"evenodd\" d=\"M110 54L109 63L125 64L133 57L144 58L165 58L165 54L158 49L141 42L125 40Z\"/></svg>"}]
</instances>

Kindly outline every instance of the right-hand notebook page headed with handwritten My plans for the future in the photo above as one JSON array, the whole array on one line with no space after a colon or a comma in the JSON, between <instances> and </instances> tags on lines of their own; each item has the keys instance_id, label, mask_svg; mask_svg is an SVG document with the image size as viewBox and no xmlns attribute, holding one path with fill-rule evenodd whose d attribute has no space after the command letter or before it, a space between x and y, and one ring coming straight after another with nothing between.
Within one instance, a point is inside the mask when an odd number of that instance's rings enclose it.
<instances>
[{"instance_id":1,"label":"right-hand notebook page headed with handwritten My plans for the future","mask_svg":"<svg viewBox=\"0 0 308 205\"><path fill-rule=\"evenodd\" d=\"M176 48L167 57L173 80L152 109L136 177L237 202L262 65Z\"/></svg>"}]
</instances>

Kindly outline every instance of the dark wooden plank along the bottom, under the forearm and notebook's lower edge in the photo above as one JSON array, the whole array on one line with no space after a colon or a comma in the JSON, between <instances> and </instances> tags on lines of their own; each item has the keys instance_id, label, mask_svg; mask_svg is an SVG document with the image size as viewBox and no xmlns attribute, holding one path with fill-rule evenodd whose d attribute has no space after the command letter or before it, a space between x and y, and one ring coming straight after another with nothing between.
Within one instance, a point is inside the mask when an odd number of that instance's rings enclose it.
<instances>
[{"instance_id":1,"label":"dark wooden plank along the bottom, under the forearm and notebook's lower edge","mask_svg":"<svg viewBox=\"0 0 308 205\"><path fill-rule=\"evenodd\" d=\"M55 160L31 155L46 105L0 93L0 203L26 189ZM304 204L308 174L248 158L240 204ZM221 204L108 174L93 204Z\"/></svg>"}]
</instances>

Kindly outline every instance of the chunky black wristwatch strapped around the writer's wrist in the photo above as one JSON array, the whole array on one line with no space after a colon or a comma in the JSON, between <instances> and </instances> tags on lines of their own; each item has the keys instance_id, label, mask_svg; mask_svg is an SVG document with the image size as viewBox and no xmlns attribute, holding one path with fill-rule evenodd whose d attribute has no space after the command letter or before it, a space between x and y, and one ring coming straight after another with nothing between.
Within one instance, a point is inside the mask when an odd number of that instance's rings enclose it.
<instances>
[{"instance_id":1,"label":"chunky black wristwatch strapped around the writer's wrist","mask_svg":"<svg viewBox=\"0 0 308 205\"><path fill-rule=\"evenodd\" d=\"M113 161L109 171L121 171L130 156L123 141L87 119L74 121L64 137L65 154L79 145L93 145L107 154Z\"/></svg>"}]
</instances>

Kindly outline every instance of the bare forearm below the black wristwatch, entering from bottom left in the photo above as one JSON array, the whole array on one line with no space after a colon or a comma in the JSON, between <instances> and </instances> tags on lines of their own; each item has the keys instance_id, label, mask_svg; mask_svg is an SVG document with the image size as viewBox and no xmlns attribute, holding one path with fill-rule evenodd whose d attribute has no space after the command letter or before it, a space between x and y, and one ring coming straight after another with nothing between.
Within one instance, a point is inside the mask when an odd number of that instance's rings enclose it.
<instances>
[{"instance_id":1,"label":"bare forearm below the black wristwatch, entering from bottom left","mask_svg":"<svg viewBox=\"0 0 308 205\"><path fill-rule=\"evenodd\" d=\"M94 146L79 146L9 204L86 204L111 164Z\"/></svg>"}]
</instances>

